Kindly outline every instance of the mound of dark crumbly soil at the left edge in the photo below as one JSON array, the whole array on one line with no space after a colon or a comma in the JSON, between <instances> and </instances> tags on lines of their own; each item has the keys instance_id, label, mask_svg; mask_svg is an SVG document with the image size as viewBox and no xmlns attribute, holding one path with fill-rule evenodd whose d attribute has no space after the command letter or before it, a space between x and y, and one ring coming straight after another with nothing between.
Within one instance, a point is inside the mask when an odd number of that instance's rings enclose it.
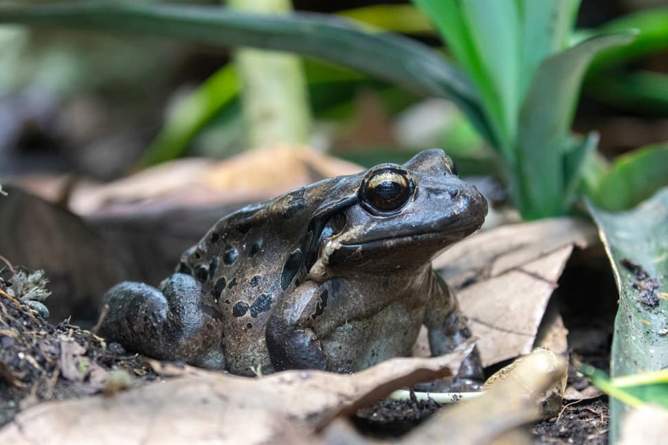
<instances>
[{"instance_id":1,"label":"mound of dark crumbly soil at the left edge","mask_svg":"<svg viewBox=\"0 0 668 445\"><path fill-rule=\"evenodd\" d=\"M12 297L0 280L0 426L42 400L62 400L113 391L155 380L139 356L118 343L72 326L53 326Z\"/></svg>"}]
</instances>

